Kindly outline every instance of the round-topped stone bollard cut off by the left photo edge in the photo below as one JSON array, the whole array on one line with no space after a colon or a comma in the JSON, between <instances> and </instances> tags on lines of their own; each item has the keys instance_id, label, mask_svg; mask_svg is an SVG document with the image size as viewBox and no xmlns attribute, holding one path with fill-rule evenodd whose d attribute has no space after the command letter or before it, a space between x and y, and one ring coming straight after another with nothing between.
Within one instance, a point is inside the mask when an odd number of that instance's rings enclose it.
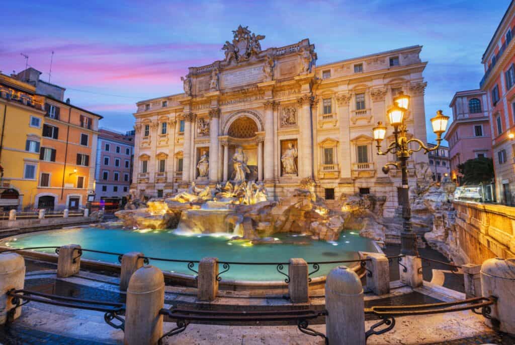
<instances>
[{"instance_id":1,"label":"round-topped stone bollard cut off by the left photo edge","mask_svg":"<svg viewBox=\"0 0 515 345\"><path fill-rule=\"evenodd\" d=\"M7 313L13 307L12 298L7 297L11 289L21 290L25 283L25 260L16 253L0 254L0 325L7 322ZM22 308L16 308L13 319L22 314Z\"/></svg>"}]
</instances>

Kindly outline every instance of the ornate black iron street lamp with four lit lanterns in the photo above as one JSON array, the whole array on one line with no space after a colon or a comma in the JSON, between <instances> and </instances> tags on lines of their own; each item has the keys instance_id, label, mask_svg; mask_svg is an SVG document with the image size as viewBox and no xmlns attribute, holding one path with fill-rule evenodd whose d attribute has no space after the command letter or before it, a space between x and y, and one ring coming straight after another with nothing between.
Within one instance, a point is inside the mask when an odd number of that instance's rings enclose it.
<instances>
[{"instance_id":1,"label":"ornate black iron street lamp with four lit lanterns","mask_svg":"<svg viewBox=\"0 0 515 345\"><path fill-rule=\"evenodd\" d=\"M377 122L377 126L372 129L374 134L374 140L377 142L377 154L386 155L393 153L397 156L397 163L388 163L383 167L383 172L388 174L390 167L394 166L397 169L401 169L402 172L402 188L401 197L402 201L402 234L401 234L401 254L418 256L417 250L417 235L413 232L411 227L411 208L409 206L409 194L408 194L408 173L407 173L407 160L414 152L423 150L424 153L435 151L440 146L442 141L442 134L447 128L449 117L442 114L441 110L438 110L436 116L431 119L433 126L433 132L436 134L437 145L434 147L427 147L421 140L416 138L407 138L407 127L404 122L404 115L407 112L409 106L409 96L402 92L395 98L393 98L393 106L388 109L388 120L390 125L393 126L393 135L395 136L394 141L388 144L386 151L381 150L381 142L386 136L386 126L381 121ZM410 143L418 144L417 149L409 149Z\"/></svg>"}]
</instances>

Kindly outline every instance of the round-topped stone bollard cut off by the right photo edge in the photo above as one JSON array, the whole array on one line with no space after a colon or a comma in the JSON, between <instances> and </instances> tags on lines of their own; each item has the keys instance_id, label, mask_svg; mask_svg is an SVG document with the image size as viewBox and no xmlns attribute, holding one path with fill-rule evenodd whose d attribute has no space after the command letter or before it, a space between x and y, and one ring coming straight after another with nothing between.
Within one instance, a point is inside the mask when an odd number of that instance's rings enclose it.
<instances>
[{"instance_id":1,"label":"round-topped stone bollard cut off by the right photo edge","mask_svg":"<svg viewBox=\"0 0 515 345\"><path fill-rule=\"evenodd\" d=\"M483 297L496 297L490 316L499 321L499 331L515 334L515 258L488 259L481 266L481 290ZM492 328L497 324L490 319L485 323Z\"/></svg>"}]
</instances>

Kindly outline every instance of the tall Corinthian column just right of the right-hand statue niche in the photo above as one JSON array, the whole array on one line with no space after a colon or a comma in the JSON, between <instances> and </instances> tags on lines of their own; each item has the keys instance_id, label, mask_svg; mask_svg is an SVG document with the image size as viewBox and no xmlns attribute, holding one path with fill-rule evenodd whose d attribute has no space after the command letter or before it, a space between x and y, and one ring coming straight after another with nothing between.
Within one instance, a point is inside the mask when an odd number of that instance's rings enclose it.
<instances>
[{"instance_id":1,"label":"tall Corinthian column just right of the right-hand statue niche","mask_svg":"<svg viewBox=\"0 0 515 345\"><path fill-rule=\"evenodd\" d=\"M313 145L311 142L311 96L304 95L297 100L299 104L299 176L313 177Z\"/></svg>"}]
</instances>

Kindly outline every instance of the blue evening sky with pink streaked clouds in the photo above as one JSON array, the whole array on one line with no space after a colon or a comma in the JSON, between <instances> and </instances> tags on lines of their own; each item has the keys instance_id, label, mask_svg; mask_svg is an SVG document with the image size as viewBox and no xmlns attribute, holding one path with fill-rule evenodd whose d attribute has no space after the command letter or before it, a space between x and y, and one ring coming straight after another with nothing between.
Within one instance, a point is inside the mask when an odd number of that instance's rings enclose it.
<instances>
[{"instance_id":1,"label":"blue evening sky with pink streaked clouds","mask_svg":"<svg viewBox=\"0 0 515 345\"><path fill-rule=\"evenodd\" d=\"M451 114L459 90L475 89L480 63L509 0L5 2L0 70L30 66L66 87L72 103L132 128L135 102L182 92L187 67L221 59L239 24L266 35L264 49L309 38L317 64L423 45L425 106ZM431 130L428 139L434 140Z\"/></svg>"}]
</instances>

